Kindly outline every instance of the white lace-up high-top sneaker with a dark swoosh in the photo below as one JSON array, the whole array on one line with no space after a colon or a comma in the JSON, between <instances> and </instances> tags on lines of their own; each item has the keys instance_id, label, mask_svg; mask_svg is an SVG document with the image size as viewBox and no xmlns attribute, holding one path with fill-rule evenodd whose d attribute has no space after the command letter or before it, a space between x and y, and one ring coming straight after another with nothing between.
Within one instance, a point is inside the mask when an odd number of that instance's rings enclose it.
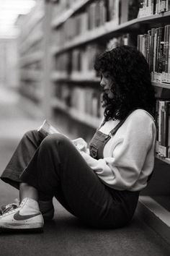
<instances>
[{"instance_id":1,"label":"white lace-up high-top sneaker with a dark swoosh","mask_svg":"<svg viewBox=\"0 0 170 256\"><path fill-rule=\"evenodd\" d=\"M16 208L6 208L0 215L0 230L42 230L44 221L37 201L26 197Z\"/></svg>"}]
</instances>

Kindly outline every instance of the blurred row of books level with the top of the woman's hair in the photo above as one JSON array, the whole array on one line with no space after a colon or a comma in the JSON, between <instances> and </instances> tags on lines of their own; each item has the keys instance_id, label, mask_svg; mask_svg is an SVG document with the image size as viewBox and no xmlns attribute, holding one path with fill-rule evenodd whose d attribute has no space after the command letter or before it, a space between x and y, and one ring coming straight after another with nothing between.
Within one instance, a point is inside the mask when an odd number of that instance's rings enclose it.
<instances>
[{"instance_id":1,"label":"blurred row of books level with the top of the woman's hair","mask_svg":"<svg viewBox=\"0 0 170 256\"><path fill-rule=\"evenodd\" d=\"M72 51L63 53L54 60L54 69L58 71L81 72L82 74L93 70L94 59L97 55L107 49L116 46L128 45L130 43L130 35L125 34L118 38L112 38L107 45L99 45L97 43L89 44L84 48L75 48ZM94 72L95 77L95 72Z\"/></svg>"}]
</instances>

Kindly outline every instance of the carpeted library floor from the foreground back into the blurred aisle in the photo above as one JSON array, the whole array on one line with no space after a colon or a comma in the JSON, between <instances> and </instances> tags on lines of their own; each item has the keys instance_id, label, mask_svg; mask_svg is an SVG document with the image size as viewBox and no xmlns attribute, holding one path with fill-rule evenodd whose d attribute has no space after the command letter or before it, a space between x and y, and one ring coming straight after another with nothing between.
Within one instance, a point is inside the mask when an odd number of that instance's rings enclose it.
<instances>
[{"instance_id":1,"label":"carpeted library floor from the foreground back into the blurred aisle","mask_svg":"<svg viewBox=\"0 0 170 256\"><path fill-rule=\"evenodd\" d=\"M35 129L42 122L35 111L34 116L26 111L23 103L20 95L0 87L0 173L24 132ZM18 197L18 192L0 181L0 195L0 204L4 204ZM168 244L136 215L133 222L123 229L89 229L56 200L54 205L54 219L45 224L43 233L0 234L0 255L170 255Z\"/></svg>"}]
</instances>

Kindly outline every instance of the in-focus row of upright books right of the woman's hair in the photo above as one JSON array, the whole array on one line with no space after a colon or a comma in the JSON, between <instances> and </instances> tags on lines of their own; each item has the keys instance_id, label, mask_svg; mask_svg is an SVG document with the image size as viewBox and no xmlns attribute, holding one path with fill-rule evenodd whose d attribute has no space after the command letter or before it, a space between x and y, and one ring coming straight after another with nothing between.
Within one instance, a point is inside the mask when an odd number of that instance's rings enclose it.
<instances>
[{"instance_id":1,"label":"in-focus row of upright books right of the woman's hair","mask_svg":"<svg viewBox=\"0 0 170 256\"><path fill-rule=\"evenodd\" d=\"M138 50L148 61L152 81L170 83L170 25L138 35Z\"/></svg>"}]
</instances>

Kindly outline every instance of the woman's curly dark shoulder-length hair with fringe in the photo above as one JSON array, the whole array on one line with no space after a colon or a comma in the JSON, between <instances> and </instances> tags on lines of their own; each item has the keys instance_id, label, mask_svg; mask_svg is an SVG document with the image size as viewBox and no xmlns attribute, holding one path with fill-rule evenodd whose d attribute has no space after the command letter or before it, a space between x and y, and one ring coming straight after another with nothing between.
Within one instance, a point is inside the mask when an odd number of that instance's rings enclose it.
<instances>
[{"instance_id":1,"label":"woman's curly dark shoulder-length hair with fringe","mask_svg":"<svg viewBox=\"0 0 170 256\"><path fill-rule=\"evenodd\" d=\"M151 84L148 62L133 46L118 46L97 56L94 61L97 72L108 72L114 86L114 98L103 93L104 119L125 119L130 111L143 108L155 116L155 90Z\"/></svg>"}]
</instances>

